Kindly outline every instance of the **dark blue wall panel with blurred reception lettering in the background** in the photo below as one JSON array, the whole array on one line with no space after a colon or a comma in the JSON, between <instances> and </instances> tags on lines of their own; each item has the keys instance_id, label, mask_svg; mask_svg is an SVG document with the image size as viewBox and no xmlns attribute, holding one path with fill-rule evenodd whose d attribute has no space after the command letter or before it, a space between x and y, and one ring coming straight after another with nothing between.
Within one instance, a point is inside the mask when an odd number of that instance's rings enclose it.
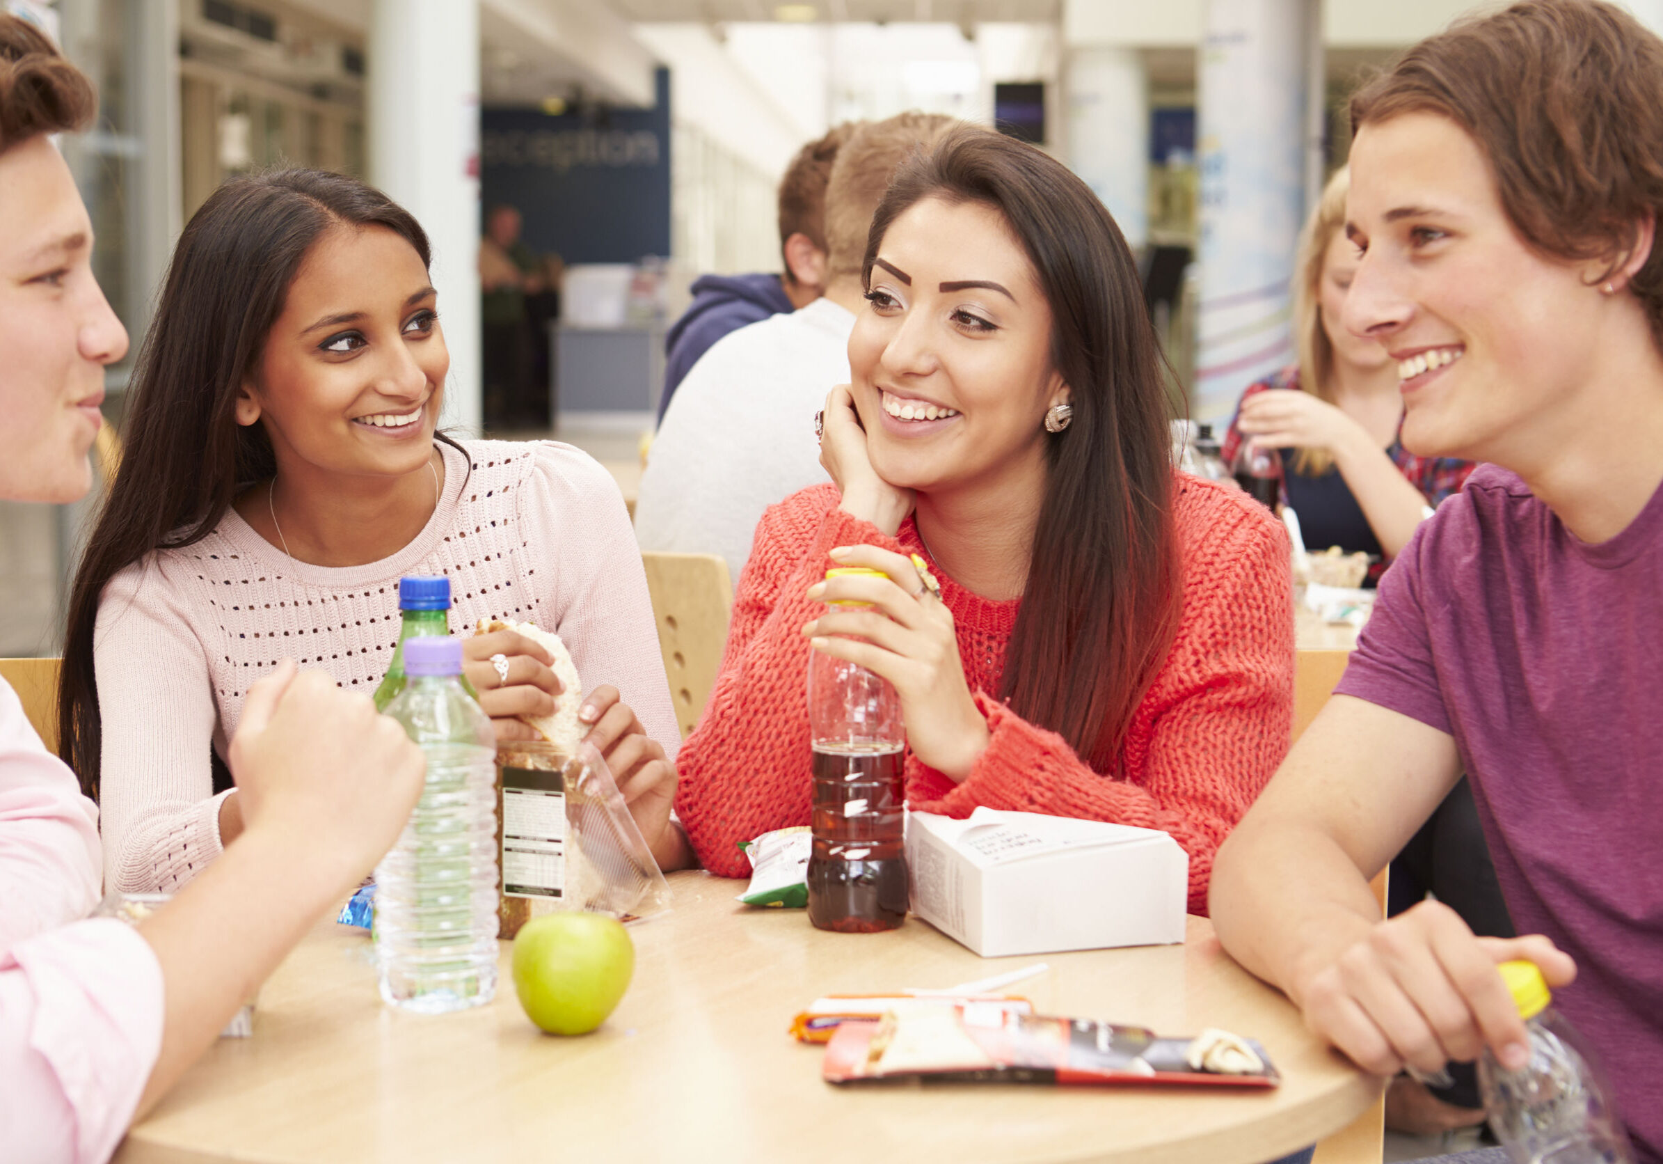
<instances>
[{"instance_id":1,"label":"dark blue wall panel with blurred reception lettering in the background","mask_svg":"<svg viewBox=\"0 0 1663 1164\"><path fill-rule=\"evenodd\" d=\"M517 206L524 239L567 263L670 253L670 73L650 110L486 108L481 201Z\"/></svg>"}]
</instances>

